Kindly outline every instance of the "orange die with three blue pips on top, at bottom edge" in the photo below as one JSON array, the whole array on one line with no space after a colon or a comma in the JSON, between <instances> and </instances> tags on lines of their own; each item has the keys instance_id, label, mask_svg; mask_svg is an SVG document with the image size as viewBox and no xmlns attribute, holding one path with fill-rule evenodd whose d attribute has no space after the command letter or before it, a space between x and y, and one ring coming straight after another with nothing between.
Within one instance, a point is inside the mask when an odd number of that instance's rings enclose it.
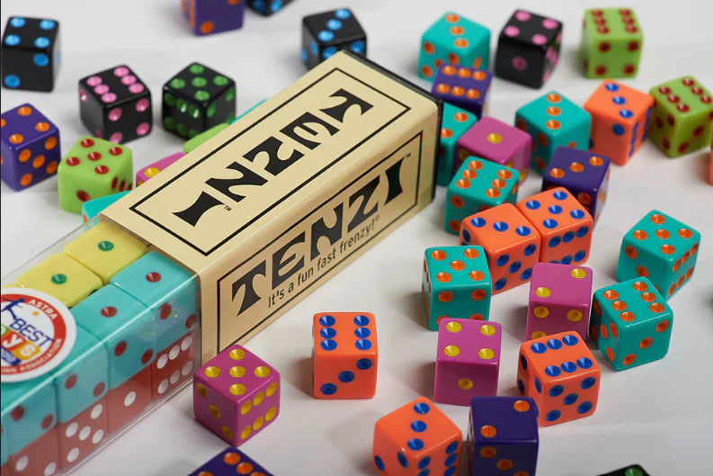
<instances>
[{"instance_id":1,"label":"orange die with three blue pips on top, at bottom edge","mask_svg":"<svg viewBox=\"0 0 713 476\"><path fill-rule=\"evenodd\" d=\"M374 467L384 476L453 476L460 467L459 427L424 397L379 418L374 426Z\"/></svg>"}]
</instances>

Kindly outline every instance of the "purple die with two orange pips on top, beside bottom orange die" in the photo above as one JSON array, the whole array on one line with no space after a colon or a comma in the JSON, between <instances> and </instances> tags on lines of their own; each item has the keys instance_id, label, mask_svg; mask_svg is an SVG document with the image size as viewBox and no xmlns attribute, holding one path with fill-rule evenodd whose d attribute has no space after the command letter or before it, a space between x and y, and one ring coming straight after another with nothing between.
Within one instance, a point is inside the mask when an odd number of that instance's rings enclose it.
<instances>
[{"instance_id":1,"label":"purple die with two orange pips on top, beside bottom orange die","mask_svg":"<svg viewBox=\"0 0 713 476\"><path fill-rule=\"evenodd\" d=\"M468 476L535 474L537 406L527 397L477 397L470 402Z\"/></svg>"}]
</instances>

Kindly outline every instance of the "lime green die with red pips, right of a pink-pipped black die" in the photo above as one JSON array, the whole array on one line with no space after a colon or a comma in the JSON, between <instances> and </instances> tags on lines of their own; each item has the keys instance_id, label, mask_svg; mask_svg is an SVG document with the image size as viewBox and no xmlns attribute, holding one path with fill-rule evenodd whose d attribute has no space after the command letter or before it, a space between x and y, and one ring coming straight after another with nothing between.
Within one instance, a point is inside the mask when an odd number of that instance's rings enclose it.
<instances>
[{"instance_id":1,"label":"lime green die with red pips, right of a pink-pipped black die","mask_svg":"<svg viewBox=\"0 0 713 476\"><path fill-rule=\"evenodd\" d=\"M579 54L587 77L637 76L644 34L630 8L584 12Z\"/></svg>"}]
</instances>

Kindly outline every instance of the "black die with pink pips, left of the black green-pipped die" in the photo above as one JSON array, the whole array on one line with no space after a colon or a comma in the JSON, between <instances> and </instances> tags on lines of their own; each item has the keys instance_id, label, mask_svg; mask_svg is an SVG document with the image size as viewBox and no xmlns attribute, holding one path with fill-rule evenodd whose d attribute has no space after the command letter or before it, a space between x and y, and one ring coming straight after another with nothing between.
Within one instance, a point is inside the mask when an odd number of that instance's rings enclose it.
<instances>
[{"instance_id":1,"label":"black die with pink pips, left of the black green-pipped die","mask_svg":"<svg viewBox=\"0 0 713 476\"><path fill-rule=\"evenodd\" d=\"M126 65L79 80L79 112L94 137L122 144L151 131L151 92Z\"/></svg>"}]
</instances>

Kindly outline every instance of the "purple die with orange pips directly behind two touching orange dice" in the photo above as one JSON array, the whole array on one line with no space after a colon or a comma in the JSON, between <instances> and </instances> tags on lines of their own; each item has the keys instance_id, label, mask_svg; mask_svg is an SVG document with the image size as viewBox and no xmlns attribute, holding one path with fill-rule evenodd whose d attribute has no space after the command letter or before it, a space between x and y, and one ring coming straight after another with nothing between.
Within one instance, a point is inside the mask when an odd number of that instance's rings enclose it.
<instances>
[{"instance_id":1,"label":"purple die with orange pips directly behind two touching orange dice","mask_svg":"<svg viewBox=\"0 0 713 476\"><path fill-rule=\"evenodd\" d=\"M558 147L542 180L542 191L565 187L594 218L607 200L611 160L578 148Z\"/></svg>"}]
</instances>

